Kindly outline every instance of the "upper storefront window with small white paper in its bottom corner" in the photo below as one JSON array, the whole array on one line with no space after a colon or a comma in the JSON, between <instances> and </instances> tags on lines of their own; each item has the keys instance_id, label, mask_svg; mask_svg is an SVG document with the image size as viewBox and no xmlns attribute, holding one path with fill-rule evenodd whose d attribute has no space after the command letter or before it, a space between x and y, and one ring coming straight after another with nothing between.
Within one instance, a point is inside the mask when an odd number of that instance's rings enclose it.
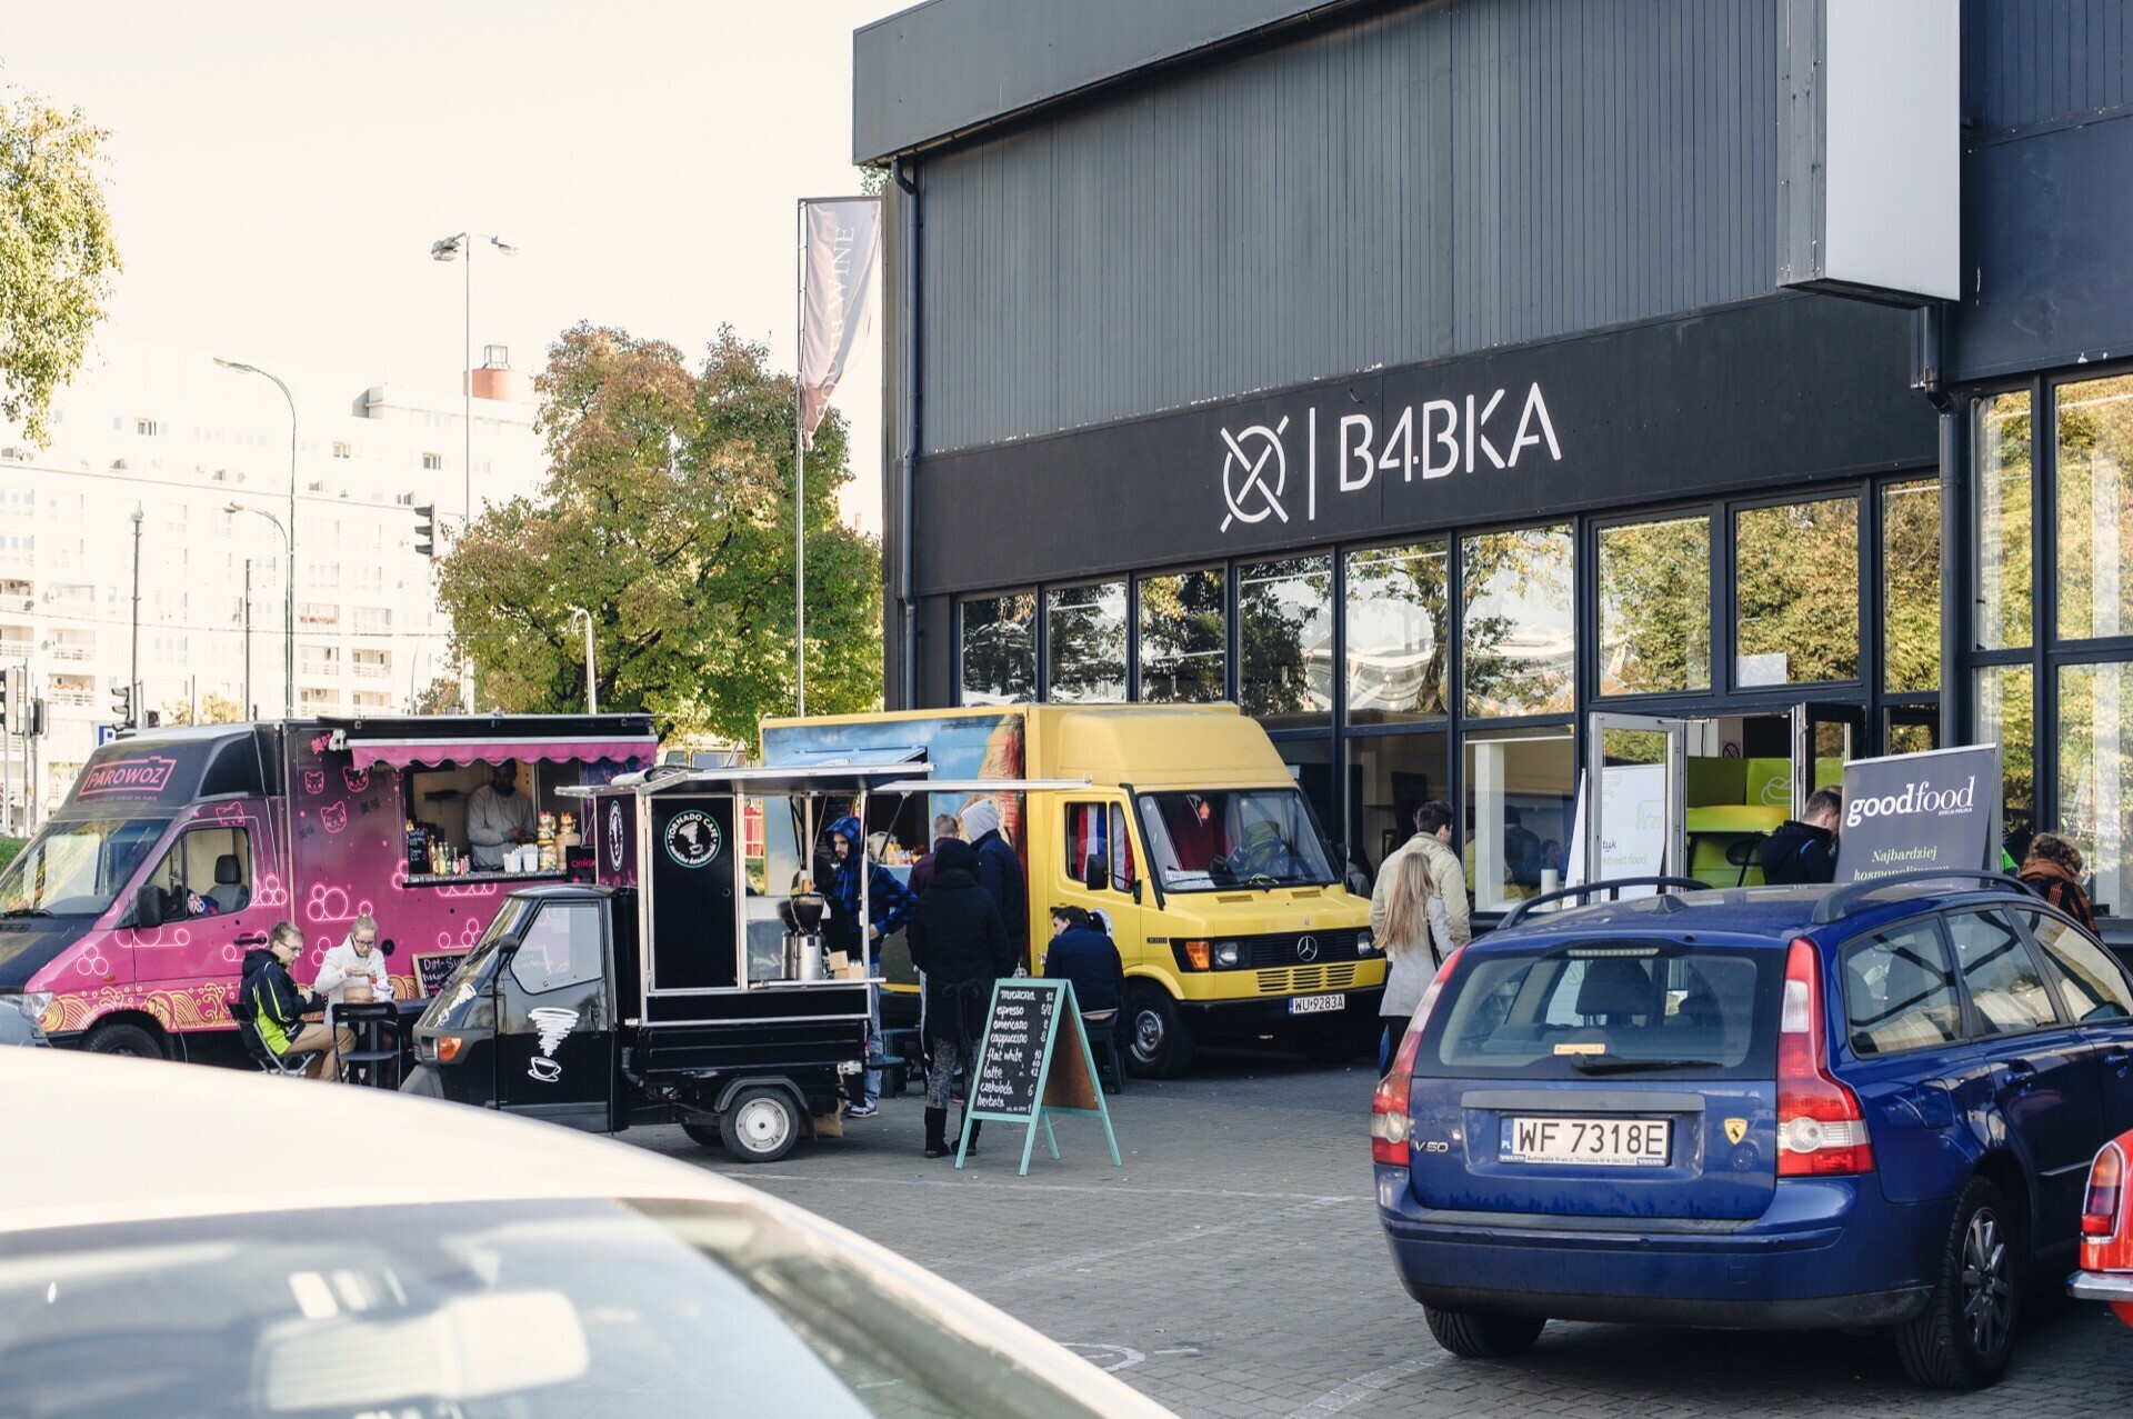
<instances>
[{"instance_id":1,"label":"upper storefront window with small white paper in its bottom corner","mask_svg":"<svg viewBox=\"0 0 2133 1419\"><path fill-rule=\"evenodd\" d=\"M1734 514L1734 681L1813 685L1860 674L1860 501Z\"/></svg>"}]
</instances>

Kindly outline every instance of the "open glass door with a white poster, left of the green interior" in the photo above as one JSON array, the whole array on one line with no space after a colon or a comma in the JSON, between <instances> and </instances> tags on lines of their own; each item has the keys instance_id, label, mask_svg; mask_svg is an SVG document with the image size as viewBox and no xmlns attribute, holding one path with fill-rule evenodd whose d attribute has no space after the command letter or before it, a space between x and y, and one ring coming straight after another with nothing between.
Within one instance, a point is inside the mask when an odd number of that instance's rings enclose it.
<instances>
[{"instance_id":1,"label":"open glass door with a white poster, left of the green interior","mask_svg":"<svg viewBox=\"0 0 2133 1419\"><path fill-rule=\"evenodd\" d=\"M1572 879L1662 877L1683 856L1687 726L1593 713L1585 736L1585 832ZM1591 787L1598 785L1598 787Z\"/></svg>"}]
</instances>

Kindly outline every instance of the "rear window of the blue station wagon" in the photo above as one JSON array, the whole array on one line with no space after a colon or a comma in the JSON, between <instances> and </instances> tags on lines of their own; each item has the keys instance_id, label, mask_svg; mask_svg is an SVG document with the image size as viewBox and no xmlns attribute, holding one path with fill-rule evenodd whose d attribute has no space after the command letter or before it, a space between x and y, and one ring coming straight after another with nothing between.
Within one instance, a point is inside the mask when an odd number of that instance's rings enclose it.
<instances>
[{"instance_id":1,"label":"rear window of the blue station wagon","mask_svg":"<svg viewBox=\"0 0 2133 1419\"><path fill-rule=\"evenodd\" d=\"M1476 952L1431 1011L1416 1075L1768 1078L1777 950L1591 941Z\"/></svg>"}]
</instances>

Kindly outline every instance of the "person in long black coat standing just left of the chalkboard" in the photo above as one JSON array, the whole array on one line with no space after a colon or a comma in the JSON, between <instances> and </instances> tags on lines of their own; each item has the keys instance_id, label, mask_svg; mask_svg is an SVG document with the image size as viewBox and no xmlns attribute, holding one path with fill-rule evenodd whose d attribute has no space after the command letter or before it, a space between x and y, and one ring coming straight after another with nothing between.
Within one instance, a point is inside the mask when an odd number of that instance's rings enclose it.
<instances>
[{"instance_id":1,"label":"person in long black coat standing just left of the chalkboard","mask_svg":"<svg viewBox=\"0 0 2133 1419\"><path fill-rule=\"evenodd\" d=\"M947 1157L947 1101L956 1069L977 1080L977 1041L985 1031L992 982L1011 975L1015 947L1000 909L977 883L977 849L949 839L934 851L934 879L904 935L911 962L926 973L926 1157ZM964 1105L968 1107L968 1105ZM971 1125L977 1144L977 1125Z\"/></svg>"}]
</instances>

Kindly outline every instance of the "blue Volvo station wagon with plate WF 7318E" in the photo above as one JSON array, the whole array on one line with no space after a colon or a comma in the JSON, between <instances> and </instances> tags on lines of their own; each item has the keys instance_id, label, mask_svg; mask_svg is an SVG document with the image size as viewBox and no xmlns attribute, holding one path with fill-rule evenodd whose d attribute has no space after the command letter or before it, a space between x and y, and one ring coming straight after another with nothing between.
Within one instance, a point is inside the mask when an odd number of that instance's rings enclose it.
<instances>
[{"instance_id":1,"label":"blue Volvo station wagon with plate WF 7318E","mask_svg":"<svg viewBox=\"0 0 2133 1419\"><path fill-rule=\"evenodd\" d=\"M1990 1385L2133 1127L2133 982L2011 879L1691 886L1519 909L1423 997L1372 1154L1431 1334L1881 1325Z\"/></svg>"}]
</instances>

